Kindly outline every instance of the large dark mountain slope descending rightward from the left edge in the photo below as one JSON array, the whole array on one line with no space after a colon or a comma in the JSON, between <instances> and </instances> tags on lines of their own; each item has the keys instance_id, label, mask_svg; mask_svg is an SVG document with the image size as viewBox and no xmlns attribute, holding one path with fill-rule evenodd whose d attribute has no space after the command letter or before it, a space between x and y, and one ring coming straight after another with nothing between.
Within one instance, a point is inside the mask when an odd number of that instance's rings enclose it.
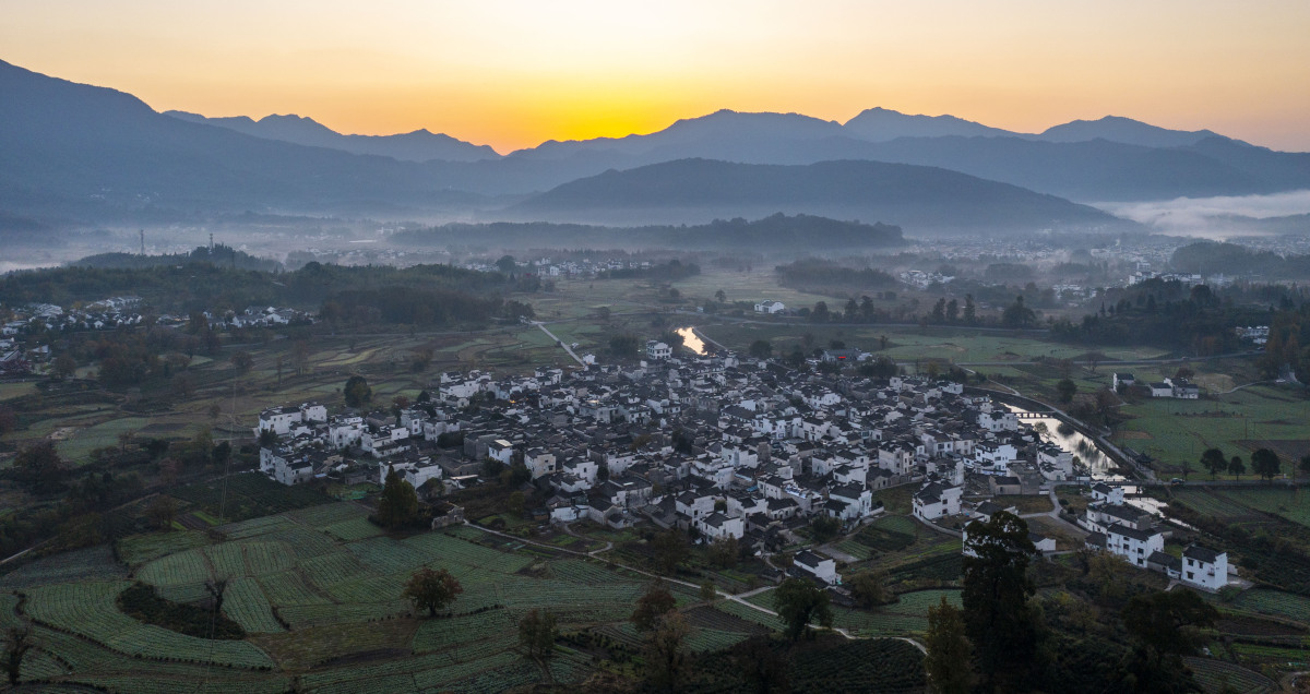
<instances>
[{"instance_id":1,"label":"large dark mountain slope descending rightward from the left edge","mask_svg":"<svg viewBox=\"0 0 1310 694\"><path fill-rule=\"evenodd\" d=\"M131 94L0 63L0 208L390 211L469 204L431 168L189 123Z\"/></svg>"}]
</instances>

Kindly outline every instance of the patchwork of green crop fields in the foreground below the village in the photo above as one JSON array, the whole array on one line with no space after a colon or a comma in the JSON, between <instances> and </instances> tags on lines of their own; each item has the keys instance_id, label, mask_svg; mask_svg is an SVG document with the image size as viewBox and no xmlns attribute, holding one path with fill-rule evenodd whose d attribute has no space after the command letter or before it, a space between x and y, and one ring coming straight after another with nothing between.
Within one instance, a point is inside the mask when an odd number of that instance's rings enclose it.
<instances>
[{"instance_id":1,"label":"patchwork of green crop fields in the foreground below the village","mask_svg":"<svg viewBox=\"0 0 1310 694\"><path fill-rule=\"evenodd\" d=\"M203 502L198 487L179 496ZM229 494L254 496L257 484ZM0 576L0 626L29 619L39 649L28 678L107 691L284 691L291 680L314 691L499 691L542 673L517 651L516 623L546 609L565 632L639 638L627 618L648 579L553 550L506 550L503 538L473 528L388 537L351 503L320 503L252 517L215 533L170 532L55 554ZM523 547L520 542L512 542ZM464 593L447 618L424 619L401 598L418 567L449 570ZM241 640L207 640L151 626L122 613L117 597L132 580L164 598L204 605L206 581L228 579L223 613L245 629ZM743 605L694 606L675 587L694 626L697 652L727 648L781 625ZM931 600L930 600L931 598ZM907 596L858 626L870 635L921 627L935 593ZM745 610L745 612L743 612ZM753 613L753 614L752 614ZM588 657L561 649L557 684L592 672ZM211 672L212 670L212 672Z\"/></svg>"}]
</instances>

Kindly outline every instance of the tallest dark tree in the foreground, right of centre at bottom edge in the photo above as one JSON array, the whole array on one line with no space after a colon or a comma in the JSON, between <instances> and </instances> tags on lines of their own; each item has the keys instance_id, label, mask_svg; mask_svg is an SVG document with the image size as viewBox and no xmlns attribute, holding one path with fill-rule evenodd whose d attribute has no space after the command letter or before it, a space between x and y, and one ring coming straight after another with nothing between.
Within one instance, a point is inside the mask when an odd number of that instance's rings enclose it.
<instances>
[{"instance_id":1,"label":"tallest dark tree in the foreground, right of centre at bottom edge","mask_svg":"<svg viewBox=\"0 0 1310 694\"><path fill-rule=\"evenodd\" d=\"M1028 604L1036 592L1028 524L1000 512L969 524L964 542L964 625L988 690L1022 691L1040 668L1040 629Z\"/></svg>"}]
</instances>

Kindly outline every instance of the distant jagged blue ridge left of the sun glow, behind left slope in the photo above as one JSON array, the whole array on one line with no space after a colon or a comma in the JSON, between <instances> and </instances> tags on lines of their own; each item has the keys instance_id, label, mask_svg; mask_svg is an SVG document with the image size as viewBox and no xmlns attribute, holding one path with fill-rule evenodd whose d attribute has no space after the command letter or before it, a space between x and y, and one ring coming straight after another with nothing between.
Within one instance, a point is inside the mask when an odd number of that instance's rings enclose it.
<instances>
[{"instance_id":1,"label":"distant jagged blue ridge left of the sun glow, behind left slope","mask_svg":"<svg viewBox=\"0 0 1310 694\"><path fill-rule=\"evenodd\" d=\"M207 118L186 111L164 111L164 115L193 123L219 126L266 140L282 140L305 147L326 147L352 155L376 155L400 161L500 158L495 149L485 144L472 144L427 130L398 135L342 135L312 118L300 115L266 115L258 120L245 115Z\"/></svg>"}]
</instances>

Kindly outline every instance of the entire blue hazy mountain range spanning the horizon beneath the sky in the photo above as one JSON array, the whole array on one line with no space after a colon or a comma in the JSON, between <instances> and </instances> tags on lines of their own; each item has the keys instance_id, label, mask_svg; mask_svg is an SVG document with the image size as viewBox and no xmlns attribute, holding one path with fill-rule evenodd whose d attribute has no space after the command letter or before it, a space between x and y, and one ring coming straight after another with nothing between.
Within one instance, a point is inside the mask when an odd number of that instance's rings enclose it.
<instances>
[{"instance_id":1,"label":"entire blue hazy mountain range spanning the horizon beneath the sky","mask_svg":"<svg viewBox=\"0 0 1310 694\"><path fill-rule=\"evenodd\" d=\"M157 113L131 94L0 62L0 227L5 219L245 210L614 223L643 210L646 223L845 213L914 234L916 225L1024 230L1112 221L1052 196L1128 202L1300 189L1310 189L1310 155L1127 118L1018 134L887 109L845 124L722 110L648 135L548 141L500 156L427 131L342 135L293 115Z\"/></svg>"}]
</instances>

